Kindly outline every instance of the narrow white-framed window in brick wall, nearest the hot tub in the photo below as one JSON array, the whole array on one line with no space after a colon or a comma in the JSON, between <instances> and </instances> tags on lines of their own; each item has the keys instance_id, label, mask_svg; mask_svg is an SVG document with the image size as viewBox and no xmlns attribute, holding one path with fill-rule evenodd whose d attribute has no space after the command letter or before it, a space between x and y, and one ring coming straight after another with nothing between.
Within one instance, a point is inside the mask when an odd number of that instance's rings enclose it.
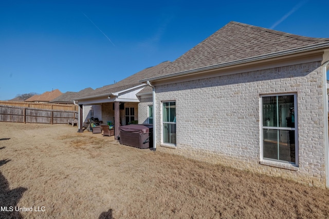
<instances>
[{"instance_id":1,"label":"narrow white-framed window in brick wall, nearest the hot tub","mask_svg":"<svg viewBox=\"0 0 329 219\"><path fill-rule=\"evenodd\" d=\"M176 102L163 104L163 143L176 145Z\"/></svg>"}]
</instances>

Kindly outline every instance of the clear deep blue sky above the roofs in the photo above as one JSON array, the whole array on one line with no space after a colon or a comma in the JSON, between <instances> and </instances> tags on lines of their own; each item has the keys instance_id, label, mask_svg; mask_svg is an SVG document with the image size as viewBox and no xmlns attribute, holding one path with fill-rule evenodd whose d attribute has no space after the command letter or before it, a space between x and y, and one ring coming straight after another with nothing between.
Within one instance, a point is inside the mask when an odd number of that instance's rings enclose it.
<instances>
[{"instance_id":1,"label":"clear deep blue sky above the roofs","mask_svg":"<svg viewBox=\"0 0 329 219\"><path fill-rule=\"evenodd\" d=\"M230 21L329 37L329 1L1 1L0 100L93 89L174 61Z\"/></svg>"}]
</instances>

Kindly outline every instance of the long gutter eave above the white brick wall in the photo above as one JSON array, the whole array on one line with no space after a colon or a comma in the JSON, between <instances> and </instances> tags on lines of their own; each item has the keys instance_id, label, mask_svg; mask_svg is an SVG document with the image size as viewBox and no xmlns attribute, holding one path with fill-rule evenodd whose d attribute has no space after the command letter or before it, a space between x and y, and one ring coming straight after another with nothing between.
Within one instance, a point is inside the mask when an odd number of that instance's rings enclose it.
<instances>
[{"instance_id":1,"label":"long gutter eave above the white brick wall","mask_svg":"<svg viewBox=\"0 0 329 219\"><path fill-rule=\"evenodd\" d=\"M232 62L226 62L226 63L205 66L205 67L196 68L196 69L190 69L190 70L186 70L186 71L175 72L175 73L171 73L171 74L167 74L167 75L146 78L139 82L147 83L148 81L157 81L160 79L167 79L170 77L182 76L182 75L197 73L197 72L204 72L204 71L220 69L220 68L224 68L224 67L232 67L235 65L242 65L242 64L252 63L252 62L264 61L264 60L270 59L270 58L278 58L278 57L282 57L282 56L294 55L294 54L303 53L303 52L312 52L312 51L327 49L327 48L329 48L329 42L324 42L324 43L319 43L319 44L315 44L315 45L311 45L311 46L304 46L304 47L299 47L299 48L295 48L295 49L289 49L289 50L284 50L284 51L280 51L280 52L274 52L274 53L269 53L269 54L265 54L265 55L259 55L259 56L253 56L253 57L249 57L249 58L239 59L239 60L232 61Z\"/></svg>"}]
</instances>

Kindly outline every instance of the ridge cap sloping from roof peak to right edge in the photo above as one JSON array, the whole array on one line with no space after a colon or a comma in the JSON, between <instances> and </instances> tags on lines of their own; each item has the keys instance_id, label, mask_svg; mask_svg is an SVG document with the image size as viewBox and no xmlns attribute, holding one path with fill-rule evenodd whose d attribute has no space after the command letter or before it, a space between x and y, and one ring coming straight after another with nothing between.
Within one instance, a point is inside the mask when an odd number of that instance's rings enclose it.
<instances>
[{"instance_id":1,"label":"ridge cap sloping from roof peak to right edge","mask_svg":"<svg viewBox=\"0 0 329 219\"><path fill-rule=\"evenodd\" d=\"M258 27L258 26L253 26L253 25L244 24L244 23L240 23L240 22L234 22L234 21L231 21L228 24L230 24L230 23L235 24L235 25L240 25L243 27L249 27L249 28L256 29L256 30L273 33L273 34L278 34L278 35L282 35L282 36L286 36L286 37L290 37L290 38L294 38L294 39L299 39L302 41L329 41L329 38L302 36L302 35L297 35L297 34L293 34L293 33L287 33L287 32L283 32L283 31L279 31L279 30L272 30L272 29L265 28L265 27Z\"/></svg>"}]
</instances>

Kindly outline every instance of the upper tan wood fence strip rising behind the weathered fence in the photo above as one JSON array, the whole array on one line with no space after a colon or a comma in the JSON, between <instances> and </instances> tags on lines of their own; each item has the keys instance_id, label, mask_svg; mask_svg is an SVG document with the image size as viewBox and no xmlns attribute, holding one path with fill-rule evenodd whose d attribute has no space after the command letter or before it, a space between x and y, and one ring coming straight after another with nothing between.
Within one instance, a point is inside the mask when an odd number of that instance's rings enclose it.
<instances>
[{"instance_id":1,"label":"upper tan wood fence strip rising behind the weathered fence","mask_svg":"<svg viewBox=\"0 0 329 219\"><path fill-rule=\"evenodd\" d=\"M49 109L49 110L71 110L78 111L79 106L74 104L49 104L49 103L28 103L16 101L0 101L0 105L26 107L35 109Z\"/></svg>"}]
</instances>

